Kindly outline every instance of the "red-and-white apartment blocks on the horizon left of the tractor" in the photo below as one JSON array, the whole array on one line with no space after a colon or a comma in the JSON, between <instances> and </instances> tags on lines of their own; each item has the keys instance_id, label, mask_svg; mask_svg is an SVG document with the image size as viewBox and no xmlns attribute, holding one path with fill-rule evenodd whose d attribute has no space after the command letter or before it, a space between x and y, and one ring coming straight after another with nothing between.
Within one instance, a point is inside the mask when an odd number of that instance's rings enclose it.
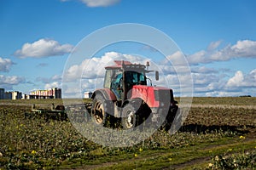
<instances>
[{"instance_id":1,"label":"red-and-white apartment blocks on the horizon left of the tractor","mask_svg":"<svg viewBox=\"0 0 256 170\"><path fill-rule=\"evenodd\" d=\"M29 95L29 99L61 99L61 88L32 91Z\"/></svg>"}]
</instances>

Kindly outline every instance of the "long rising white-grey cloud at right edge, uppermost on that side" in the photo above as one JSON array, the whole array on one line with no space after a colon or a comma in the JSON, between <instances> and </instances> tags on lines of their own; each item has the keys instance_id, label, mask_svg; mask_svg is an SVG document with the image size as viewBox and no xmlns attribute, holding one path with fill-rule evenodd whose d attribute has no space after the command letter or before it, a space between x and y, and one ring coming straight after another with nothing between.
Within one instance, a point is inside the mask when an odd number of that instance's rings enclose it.
<instances>
[{"instance_id":1,"label":"long rising white-grey cloud at right edge, uppermost on that side","mask_svg":"<svg viewBox=\"0 0 256 170\"><path fill-rule=\"evenodd\" d=\"M237 41L235 45L228 45L218 49L220 41L211 42L207 50L201 50L188 56L189 64L211 63L236 58L256 58L256 42L251 40Z\"/></svg>"}]
</instances>

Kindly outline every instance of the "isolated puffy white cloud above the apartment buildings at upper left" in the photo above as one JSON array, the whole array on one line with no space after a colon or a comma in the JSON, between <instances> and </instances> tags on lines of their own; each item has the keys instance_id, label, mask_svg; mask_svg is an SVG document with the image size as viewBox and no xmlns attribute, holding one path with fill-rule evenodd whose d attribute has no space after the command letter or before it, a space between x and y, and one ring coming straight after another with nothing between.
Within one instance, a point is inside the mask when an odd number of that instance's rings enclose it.
<instances>
[{"instance_id":1,"label":"isolated puffy white cloud above the apartment buildings at upper left","mask_svg":"<svg viewBox=\"0 0 256 170\"><path fill-rule=\"evenodd\" d=\"M36 42L26 42L21 49L15 51L15 56L22 59L27 57L42 58L55 55L68 54L73 50L73 45L60 44L52 39L39 39Z\"/></svg>"}]
</instances>

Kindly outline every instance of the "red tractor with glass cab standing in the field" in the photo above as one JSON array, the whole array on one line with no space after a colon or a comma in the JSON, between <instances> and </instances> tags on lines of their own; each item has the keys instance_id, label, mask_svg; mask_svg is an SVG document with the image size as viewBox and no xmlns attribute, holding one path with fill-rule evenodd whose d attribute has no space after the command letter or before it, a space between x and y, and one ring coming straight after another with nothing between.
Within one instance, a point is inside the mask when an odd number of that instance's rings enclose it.
<instances>
[{"instance_id":1,"label":"red tractor with glass cab standing in the field","mask_svg":"<svg viewBox=\"0 0 256 170\"><path fill-rule=\"evenodd\" d=\"M168 130L177 113L177 101L170 88L153 87L146 74L146 65L131 64L129 61L115 60L115 65L107 66L104 88L92 94L91 117L97 124L106 120L121 121L122 127L130 129L150 122ZM159 72L155 79L159 80ZM149 86L147 86L147 82Z\"/></svg>"}]
</instances>

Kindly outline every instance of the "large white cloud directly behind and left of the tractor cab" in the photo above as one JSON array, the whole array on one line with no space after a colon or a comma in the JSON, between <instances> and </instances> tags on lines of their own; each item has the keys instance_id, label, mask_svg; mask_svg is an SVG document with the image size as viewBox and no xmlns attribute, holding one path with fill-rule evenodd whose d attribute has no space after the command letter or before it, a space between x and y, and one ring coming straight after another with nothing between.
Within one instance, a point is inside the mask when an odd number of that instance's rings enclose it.
<instances>
[{"instance_id":1,"label":"large white cloud directly behind and left of the tractor cab","mask_svg":"<svg viewBox=\"0 0 256 170\"><path fill-rule=\"evenodd\" d=\"M113 60L129 60L131 63L137 64L146 64L148 61L148 59L139 56L116 52L105 53L102 57L84 59L80 65L72 65L64 73L62 81L63 96L79 96L84 91L94 91L95 88L102 88L105 67L115 65ZM81 84L80 87L78 87L78 84Z\"/></svg>"}]
</instances>

